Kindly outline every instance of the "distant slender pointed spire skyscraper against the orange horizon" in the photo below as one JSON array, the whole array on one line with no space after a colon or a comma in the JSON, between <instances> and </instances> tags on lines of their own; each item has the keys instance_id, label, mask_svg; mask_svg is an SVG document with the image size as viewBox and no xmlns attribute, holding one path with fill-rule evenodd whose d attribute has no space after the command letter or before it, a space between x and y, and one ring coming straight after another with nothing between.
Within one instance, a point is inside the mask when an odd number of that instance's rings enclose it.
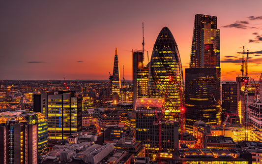
<instances>
[{"instance_id":1,"label":"distant slender pointed spire skyscraper against the orange horizon","mask_svg":"<svg viewBox=\"0 0 262 164\"><path fill-rule=\"evenodd\" d=\"M118 52L117 48L115 51L115 61L114 61L114 70L113 70L113 79L112 79L112 92L117 93L119 95L119 89L121 88L120 82L120 72L119 72L119 65L118 65Z\"/></svg>"}]
</instances>

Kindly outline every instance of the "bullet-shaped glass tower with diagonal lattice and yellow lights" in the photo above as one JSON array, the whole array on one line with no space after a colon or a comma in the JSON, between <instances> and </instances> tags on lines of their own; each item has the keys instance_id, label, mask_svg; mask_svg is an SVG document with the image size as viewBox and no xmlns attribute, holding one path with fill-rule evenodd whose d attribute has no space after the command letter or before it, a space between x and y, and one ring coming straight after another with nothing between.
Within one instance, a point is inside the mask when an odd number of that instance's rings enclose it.
<instances>
[{"instance_id":1,"label":"bullet-shaped glass tower with diagonal lattice and yellow lights","mask_svg":"<svg viewBox=\"0 0 262 164\"><path fill-rule=\"evenodd\" d=\"M165 98L164 118L179 120L183 101L183 73L173 34L164 27L154 44L149 67L148 95Z\"/></svg>"}]
</instances>

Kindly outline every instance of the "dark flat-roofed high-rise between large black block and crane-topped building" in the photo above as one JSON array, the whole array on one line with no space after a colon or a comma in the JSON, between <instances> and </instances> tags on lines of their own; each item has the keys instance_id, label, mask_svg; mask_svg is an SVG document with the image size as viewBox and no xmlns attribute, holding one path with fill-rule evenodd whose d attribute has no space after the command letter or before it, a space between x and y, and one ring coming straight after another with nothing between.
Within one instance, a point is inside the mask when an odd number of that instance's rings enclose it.
<instances>
[{"instance_id":1,"label":"dark flat-roofed high-rise between large black block and crane-topped building","mask_svg":"<svg viewBox=\"0 0 262 164\"><path fill-rule=\"evenodd\" d=\"M222 116L225 113L237 113L237 89L235 81L223 81L222 83ZM224 116L225 117L225 116ZM222 121L224 121L222 117Z\"/></svg>"}]
</instances>

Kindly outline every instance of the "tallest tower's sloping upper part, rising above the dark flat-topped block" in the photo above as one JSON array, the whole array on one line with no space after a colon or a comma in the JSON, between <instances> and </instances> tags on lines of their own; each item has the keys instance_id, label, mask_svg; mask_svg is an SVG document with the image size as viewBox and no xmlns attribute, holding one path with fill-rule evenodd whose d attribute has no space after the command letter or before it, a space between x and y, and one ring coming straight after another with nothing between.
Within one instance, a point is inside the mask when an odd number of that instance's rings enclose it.
<instances>
[{"instance_id":1,"label":"tallest tower's sloping upper part, rising above the dark flat-topped block","mask_svg":"<svg viewBox=\"0 0 262 164\"><path fill-rule=\"evenodd\" d=\"M195 16L190 67L220 67L220 31L217 17Z\"/></svg>"}]
</instances>

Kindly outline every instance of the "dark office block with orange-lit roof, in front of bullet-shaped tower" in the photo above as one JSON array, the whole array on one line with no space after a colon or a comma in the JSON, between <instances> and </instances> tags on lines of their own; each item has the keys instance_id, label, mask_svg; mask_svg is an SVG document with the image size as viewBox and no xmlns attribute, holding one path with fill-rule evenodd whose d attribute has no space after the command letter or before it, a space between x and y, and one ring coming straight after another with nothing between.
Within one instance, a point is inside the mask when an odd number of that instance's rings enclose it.
<instances>
[{"instance_id":1,"label":"dark office block with orange-lit roof, in front of bullet-shaped tower","mask_svg":"<svg viewBox=\"0 0 262 164\"><path fill-rule=\"evenodd\" d=\"M146 146L146 156L172 158L178 148L178 122L162 120L163 98L136 100L136 140Z\"/></svg>"}]
</instances>

